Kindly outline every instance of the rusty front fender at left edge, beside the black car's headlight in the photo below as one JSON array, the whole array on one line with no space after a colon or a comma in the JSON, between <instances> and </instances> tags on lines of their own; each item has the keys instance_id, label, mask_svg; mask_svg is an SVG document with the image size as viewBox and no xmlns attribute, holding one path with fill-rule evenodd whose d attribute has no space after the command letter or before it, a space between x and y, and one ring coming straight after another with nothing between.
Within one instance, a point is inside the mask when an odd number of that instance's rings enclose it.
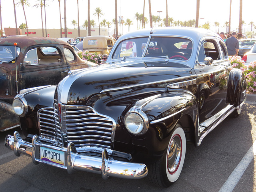
<instances>
[{"instance_id":1,"label":"rusty front fender at left edge, beside the black car's headlight","mask_svg":"<svg viewBox=\"0 0 256 192\"><path fill-rule=\"evenodd\" d=\"M19 118L12 105L0 100L0 131L16 128L19 124Z\"/></svg>"}]
</instances>

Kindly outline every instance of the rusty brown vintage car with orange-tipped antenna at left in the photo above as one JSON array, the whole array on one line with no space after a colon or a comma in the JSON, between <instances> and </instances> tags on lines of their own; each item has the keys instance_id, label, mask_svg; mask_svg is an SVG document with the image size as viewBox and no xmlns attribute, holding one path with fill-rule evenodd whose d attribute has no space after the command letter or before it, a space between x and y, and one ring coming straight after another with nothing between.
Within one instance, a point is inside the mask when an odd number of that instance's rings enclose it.
<instances>
[{"instance_id":1,"label":"rusty brown vintage car with orange-tipped antenna at left","mask_svg":"<svg viewBox=\"0 0 256 192\"><path fill-rule=\"evenodd\" d=\"M81 60L62 40L37 37L0 39L0 131L19 126L12 101L20 90L58 84L68 71L88 66L94 64Z\"/></svg>"}]
</instances>

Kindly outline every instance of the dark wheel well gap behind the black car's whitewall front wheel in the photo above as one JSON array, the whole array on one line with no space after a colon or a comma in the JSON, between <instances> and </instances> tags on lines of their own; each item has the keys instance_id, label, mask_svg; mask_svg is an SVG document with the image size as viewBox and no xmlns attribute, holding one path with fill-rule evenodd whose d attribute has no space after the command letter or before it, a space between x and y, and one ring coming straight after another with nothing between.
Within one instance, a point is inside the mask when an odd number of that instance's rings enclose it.
<instances>
[{"instance_id":1,"label":"dark wheel well gap behind the black car's whitewall front wheel","mask_svg":"<svg viewBox=\"0 0 256 192\"><path fill-rule=\"evenodd\" d=\"M194 122L193 122L192 118L189 115L183 115L180 118L179 123L183 127L187 143L194 144L195 143L195 128L194 128Z\"/></svg>"}]
</instances>

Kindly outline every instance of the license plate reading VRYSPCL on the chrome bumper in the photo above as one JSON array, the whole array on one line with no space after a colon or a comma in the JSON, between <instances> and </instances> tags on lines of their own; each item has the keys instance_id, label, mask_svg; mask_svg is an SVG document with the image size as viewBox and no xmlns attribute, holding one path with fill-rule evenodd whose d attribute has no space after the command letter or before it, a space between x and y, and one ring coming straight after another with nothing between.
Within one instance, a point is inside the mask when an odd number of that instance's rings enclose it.
<instances>
[{"instance_id":1,"label":"license plate reading VRYSPCL on the chrome bumper","mask_svg":"<svg viewBox=\"0 0 256 192\"><path fill-rule=\"evenodd\" d=\"M64 152L40 147L41 160L48 161L54 164L64 165L65 155Z\"/></svg>"}]
</instances>

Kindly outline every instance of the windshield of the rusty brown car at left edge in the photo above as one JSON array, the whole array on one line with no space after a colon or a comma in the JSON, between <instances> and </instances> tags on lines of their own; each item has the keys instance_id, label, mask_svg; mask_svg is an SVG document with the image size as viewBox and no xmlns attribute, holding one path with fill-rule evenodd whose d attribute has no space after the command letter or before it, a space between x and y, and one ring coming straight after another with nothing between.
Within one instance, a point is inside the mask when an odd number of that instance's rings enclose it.
<instances>
[{"instance_id":1,"label":"windshield of the rusty brown car at left edge","mask_svg":"<svg viewBox=\"0 0 256 192\"><path fill-rule=\"evenodd\" d=\"M20 54L20 48L15 46L0 45L0 61L15 63L15 58Z\"/></svg>"}]
</instances>

